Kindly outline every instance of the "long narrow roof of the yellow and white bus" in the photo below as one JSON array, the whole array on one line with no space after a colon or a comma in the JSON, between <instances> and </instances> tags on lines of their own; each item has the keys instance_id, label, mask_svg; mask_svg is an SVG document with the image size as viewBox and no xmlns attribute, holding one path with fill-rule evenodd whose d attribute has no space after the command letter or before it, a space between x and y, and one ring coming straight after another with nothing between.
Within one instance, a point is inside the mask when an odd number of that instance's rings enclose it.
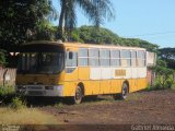
<instances>
[{"instance_id":1,"label":"long narrow roof of the yellow and white bus","mask_svg":"<svg viewBox=\"0 0 175 131\"><path fill-rule=\"evenodd\" d=\"M119 46L119 45L97 45L97 44L81 44L81 43L73 43L73 41L66 41L62 43L61 40L58 41L50 41L50 40L34 40L34 41L30 41L30 43L25 43L25 45L58 45L58 46L62 46L62 47L77 47L77 48L104 48L104 49L133 49L133 50L145 50L145 48L140 48L140 47L127 47L127 46Z\"/></svg>"}]
</instances>

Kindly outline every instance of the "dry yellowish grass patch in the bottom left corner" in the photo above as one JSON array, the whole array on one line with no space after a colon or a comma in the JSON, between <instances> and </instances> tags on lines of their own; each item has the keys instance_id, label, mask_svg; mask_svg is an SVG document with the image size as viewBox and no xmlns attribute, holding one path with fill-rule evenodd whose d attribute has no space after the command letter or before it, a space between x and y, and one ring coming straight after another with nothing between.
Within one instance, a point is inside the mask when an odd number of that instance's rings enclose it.
<instances>
[{"instance_id":1,"label":"dry yellowish grass patch in the bottom left corner","mask_svg":"<svg viewBox=\"0 0 175 131\"><path fill-rule=\"evenodd\" d=\"M0 124L58 124L55 116L35 108L0 108Z\"/></svg>"}]
</instances>

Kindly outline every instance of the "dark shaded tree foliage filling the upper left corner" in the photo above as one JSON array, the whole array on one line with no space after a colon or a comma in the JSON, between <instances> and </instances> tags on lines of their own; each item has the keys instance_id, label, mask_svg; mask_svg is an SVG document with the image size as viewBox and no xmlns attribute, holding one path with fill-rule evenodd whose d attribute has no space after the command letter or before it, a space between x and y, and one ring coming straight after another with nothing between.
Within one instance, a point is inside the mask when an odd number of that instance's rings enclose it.
<instances>
[{"instance_id":1,"label":"dark shaded tree foliage filling the upper left corner","mask_svg":"<svg viewBox=\"0 0 175 131\"><path fill-rule=\"evenodd\" d=\"M46 21L52 11L50 0L1 0L1 48L18 49L19 45L27 40L27 36L37 34L37 26Z\"/></svg>"}]
</instances>

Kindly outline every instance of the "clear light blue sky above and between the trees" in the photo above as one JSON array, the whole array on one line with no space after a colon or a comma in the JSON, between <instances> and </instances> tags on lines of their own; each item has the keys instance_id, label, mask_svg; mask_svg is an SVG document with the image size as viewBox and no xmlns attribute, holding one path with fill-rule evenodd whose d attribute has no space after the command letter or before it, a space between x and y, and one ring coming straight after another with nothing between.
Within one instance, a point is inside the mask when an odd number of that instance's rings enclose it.
<instances>
[{"instance_id":1,"label":"clear light blue sky above and between the trees","mask_svg":"<svg viewBox=\"0 0 175 131\"><path fill-rule=\"evenodd\" d=\"M160 48L175 47L175 0L110 0L115 20L105 21L102 27L120 37L140 38ZM58 0L52 0L58 9ZM92 25L78 8L78 27ZM55 24L58 22L54 22Z\"/></svg>"}]
</instances>

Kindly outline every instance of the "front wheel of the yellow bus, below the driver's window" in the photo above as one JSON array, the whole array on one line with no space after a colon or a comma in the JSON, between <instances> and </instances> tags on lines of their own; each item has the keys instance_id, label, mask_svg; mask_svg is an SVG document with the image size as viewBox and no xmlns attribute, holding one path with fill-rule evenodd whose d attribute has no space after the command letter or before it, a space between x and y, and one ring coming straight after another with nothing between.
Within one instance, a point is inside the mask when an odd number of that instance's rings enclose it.
<instances>
[{"instance_id":1,"label":"front wheel of the yellow bus, below the driver's window","mask_svg":"<svg viewBox=\"0 0 175 131\"><path fill-rule=\"evenodd\" d=\"M83 91L82 91L82 88L78 85L77 88L75 88L74 97L73 97L73 104L81 104L82 98L83 98Z\"/></svg>"}]
</instances>

